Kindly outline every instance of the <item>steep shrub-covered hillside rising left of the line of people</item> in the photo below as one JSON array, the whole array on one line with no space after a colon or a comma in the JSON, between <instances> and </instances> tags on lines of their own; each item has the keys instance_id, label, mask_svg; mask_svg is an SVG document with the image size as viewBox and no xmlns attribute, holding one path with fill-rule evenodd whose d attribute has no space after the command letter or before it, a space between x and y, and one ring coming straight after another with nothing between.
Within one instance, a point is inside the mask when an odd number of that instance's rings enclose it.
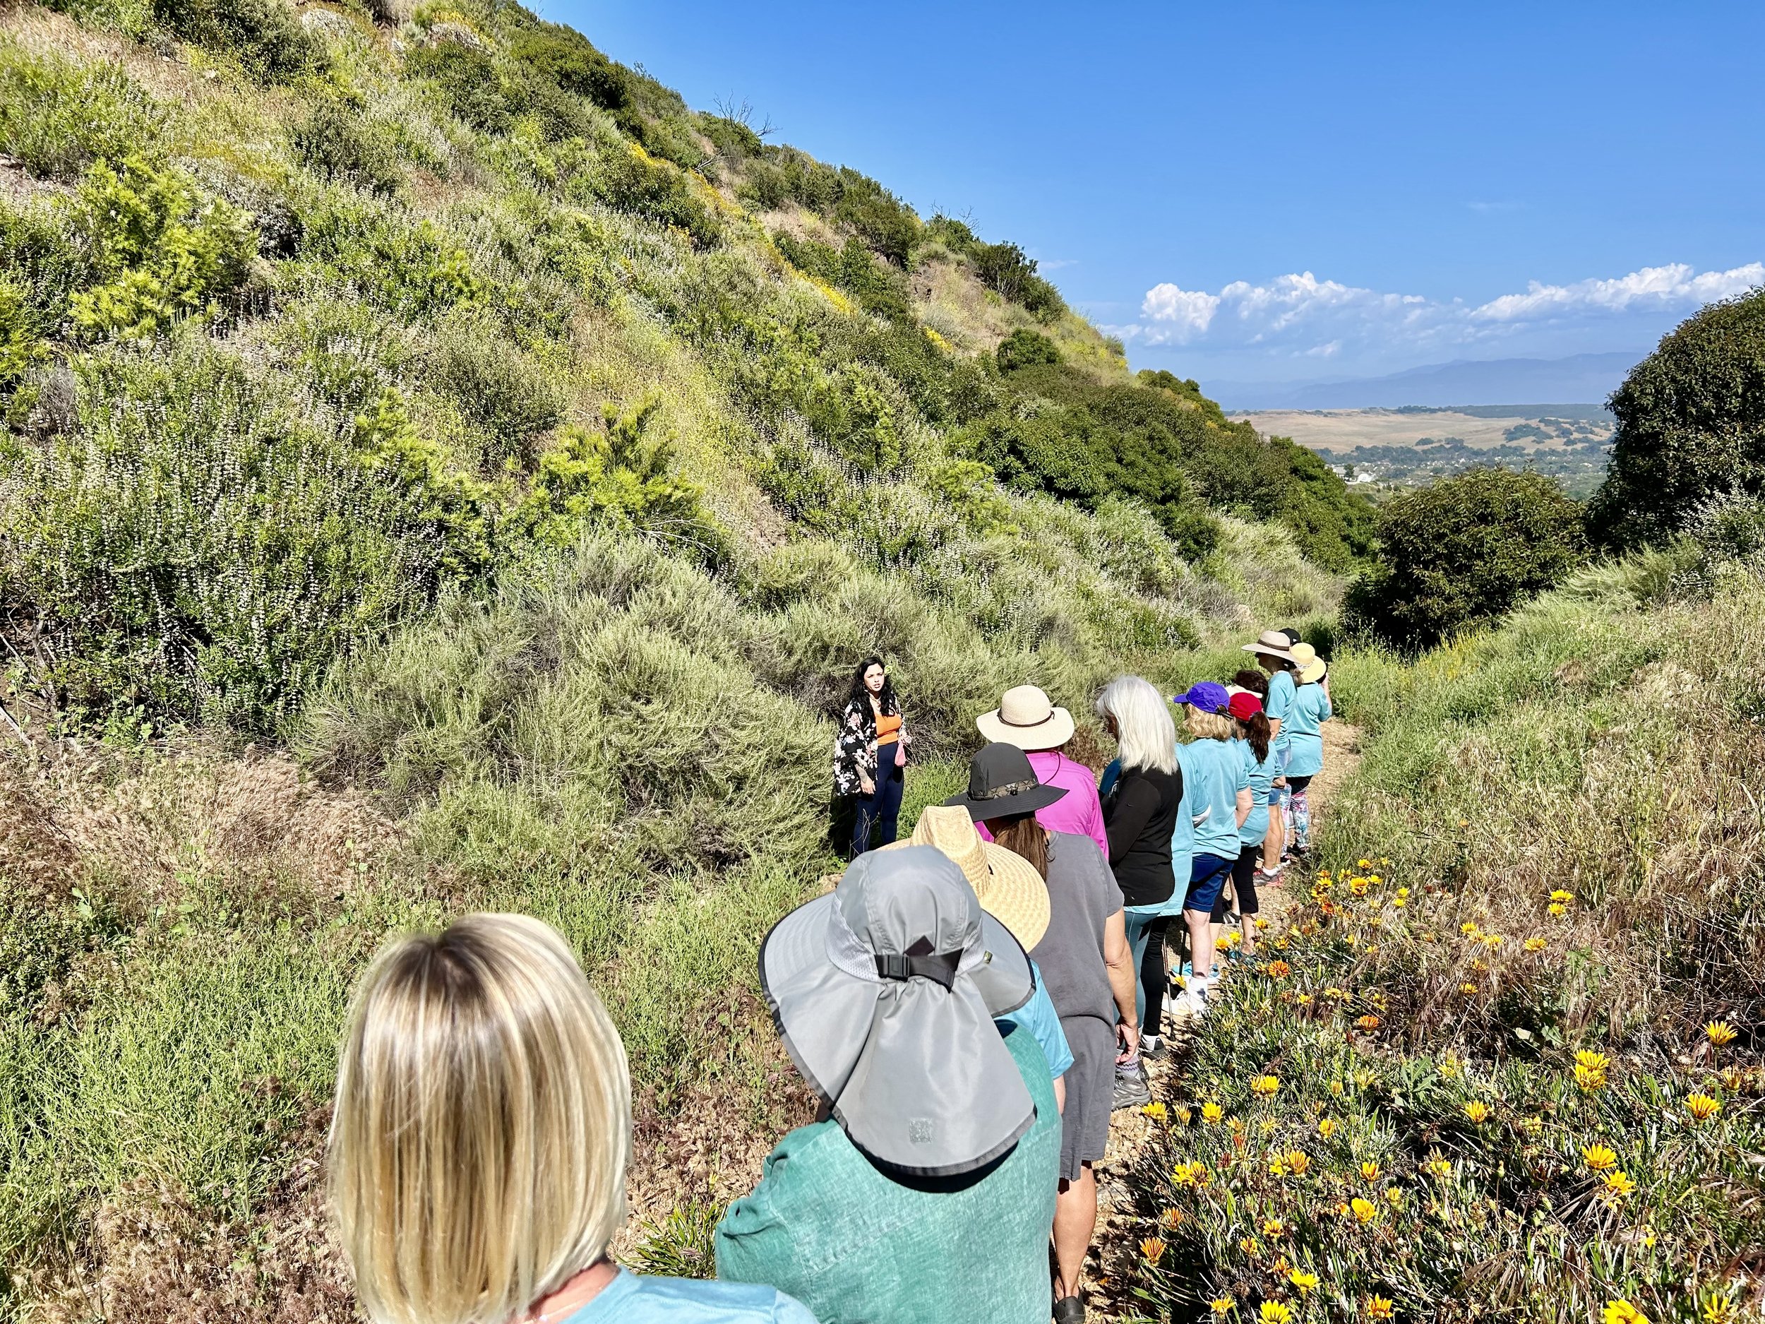
<instances>
[{"instance_id":1,"label":"steep shrub-covered hillside rising left of the line of people","mask_svg":"<svg viewBox=\"0 0 1765 1324\"><path fill-rule=\"evenodd\" d=\"M854 660L923 796L1368 549L1020 247L501 0L0 5L0 1317L348 1319L348 987L461 909L604 990L634 1236L729 1195Z\"/></svg>"}]
</instances>

